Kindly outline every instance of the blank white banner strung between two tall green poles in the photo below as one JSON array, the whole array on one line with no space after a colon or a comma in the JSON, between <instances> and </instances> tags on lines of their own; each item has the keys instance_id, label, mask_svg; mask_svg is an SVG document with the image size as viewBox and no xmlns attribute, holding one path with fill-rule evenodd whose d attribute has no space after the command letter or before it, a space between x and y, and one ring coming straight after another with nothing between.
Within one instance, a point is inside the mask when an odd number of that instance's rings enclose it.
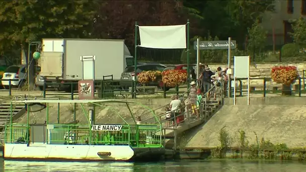
<instances>
[{"instance_id":1,"label":"blank white banner strung between two tall green poles","mask_svg":"<svg viewBox=\"0 0 306 172\"><path fill-rule=\"evenodd\" d=\"M186 48L186 25L139 26L140 47L161 49Z\"/></svg>"}]
</instances>

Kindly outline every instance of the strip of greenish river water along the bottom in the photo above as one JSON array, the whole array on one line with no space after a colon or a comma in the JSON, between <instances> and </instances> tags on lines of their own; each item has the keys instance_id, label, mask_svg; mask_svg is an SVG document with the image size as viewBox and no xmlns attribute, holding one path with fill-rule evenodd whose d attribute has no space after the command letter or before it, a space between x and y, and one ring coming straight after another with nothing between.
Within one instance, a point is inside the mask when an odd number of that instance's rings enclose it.
<instances>
[{"instance_id":1,"label":"strip of greenish river water along the bottom","mask_svg":"<svg viewBox=\"0 0 306 172\"><path fill-rule=\"evenodd\" d=\"M2 168L4 170L2 170ZM0 171L304 171L306 162L270 160L180 160L150 163L132 162L35 162L0 161Z\"/></svg>"}]
</instances>

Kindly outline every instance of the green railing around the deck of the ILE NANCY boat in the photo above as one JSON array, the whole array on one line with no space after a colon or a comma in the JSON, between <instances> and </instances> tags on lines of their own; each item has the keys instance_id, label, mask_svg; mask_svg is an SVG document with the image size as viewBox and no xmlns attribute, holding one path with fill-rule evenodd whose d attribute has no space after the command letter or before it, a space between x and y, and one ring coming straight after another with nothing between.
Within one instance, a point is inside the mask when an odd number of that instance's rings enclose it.
<instances>
[{"instance_id":1,"label":"green railing around the deck of the ILE NANCY boat","mask_svg":"<svg viewBox=\"0 0 306 172\"><path fill-rule=\"evenodd\" d=\"M30 126L8 124L5 127L5 143L43 142L46 144L130 145L132 147L161 147L163 145L162 136L156 134L162 131L160 125L121 126L120 131L92 131L90 125L79 124L34 124Z\"/></svg>"}]
</instances>

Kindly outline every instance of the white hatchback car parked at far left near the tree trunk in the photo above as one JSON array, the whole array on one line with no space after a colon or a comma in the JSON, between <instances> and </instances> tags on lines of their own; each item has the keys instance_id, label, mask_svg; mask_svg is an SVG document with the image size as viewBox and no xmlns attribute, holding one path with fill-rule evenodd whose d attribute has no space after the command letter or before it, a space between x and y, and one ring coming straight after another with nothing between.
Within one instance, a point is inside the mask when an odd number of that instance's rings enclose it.
<instances>
[{"instance_id":1,"label":"white hatchback car parked at far left near the tree trunk","mask_svg":"<svg viewBox=\"0 0 306 172\"><path fill-rule=\"evenodd\" d=\"M9 89L10 80L11 86L13 87L22 87L25 83L27 78L26 74L27 65L13 65L8 67L1 79L1 83L5 89ZM40 66L35 66L35 73L40 72Z\"/></svg>"}]
</instances>

